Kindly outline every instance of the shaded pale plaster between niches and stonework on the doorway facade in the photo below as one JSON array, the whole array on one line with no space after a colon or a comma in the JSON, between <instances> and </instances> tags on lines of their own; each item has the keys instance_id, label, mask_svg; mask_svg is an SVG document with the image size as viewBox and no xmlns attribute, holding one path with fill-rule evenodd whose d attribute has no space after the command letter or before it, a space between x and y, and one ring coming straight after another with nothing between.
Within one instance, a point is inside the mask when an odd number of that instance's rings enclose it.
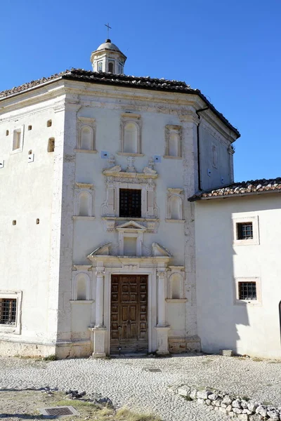
<instances>
[{"instance_id":1,"label":"shaded pale plaster between niches and stonework on the doorway facade","mask_svg":"<svg viewBox=\"0 0 281 421\"><path fill-rule=\"evenodd\" d=\"M120 90L121 91L121 90ZM112 93L112 95L117 95ZM119 93L120 95L120 93ZM128 95L128 94L127 94ZM131 95L131 91L130 91ZM150 94L151 95L151 94ZM151 95L152 96L152 95ZM153 95L155 96L155 94ZM174 96L174 95L173 95ZM172 98L174 99L174 98ZM105 104L105 101L107 102ZM159 155L162 156L161 163L155 163L155 170L159 173L155 182L156 192L156 203L159 208L159 225L157 232L153 234L143 234L143 244L145 248L151 248L153 242L160 243L162 246L169 249L173 258L171 259L171 265L185 265L188 262L188 279L186 281L184 295L190 295L190 283L193 282L191 279L192 270L190 269L189 260L190 257L185 257L184 250L185 244L190 242L189 237L185 236L183 229L185 225L190 226L189 208L190 204L186 198L188 194L194 192L194 163L193 163L193 134L195 123L186 123L183 121L179 109L175 107L174 112L161 112L161 103L157 102L156 98L153 98L153 102L148 102L148 98L140 100L138 103L135 101L132 105L126 105L126 98L122 101L119 100L119 104L115 103L115 98L103 98L102 96L97 97L85 97L83 101L80 100L77 104L77 117L86 117L88 119L94 119L96 126L96 153L89 152L76 152L75 158L75 182L76 183L88 183L93 185L93 218L79 219L75 218L74 224L74 236L73 236L73 264L74 265L89 265L89 260L86 258L95 248L103 245L107 242L112 242L114 245L118 243L118 232L106 232L105 221L102 219L102 205L105 202L105 175L103 175L103 169L108 167L107 159L101 159L101 151L107 152L108 156L115 155L115 164L122 166L125 169L128 166L127 156L119 154L120 152L120 123L122 120L122 114L126 111L133 111L141 116L141 152L143 156L135 157L136 171L142 172L145 166L148 166L148 160L151 156ZM124 102L124 103L122 103ZM85 104L85 105L84 105ZM169 104L167 100L167 104ZM166 104L166 107L167 107ZM80 107L79 107L80 106ZM69 118L66 116L67 126L70 133L77 133L77 119ZM185 133L183 142L185 145L186 152L184 151L183 158L180 159L164 159L165 151L165 126L167 124L173 124L183 126ZM185 129L186 126L186 129ZM65 138L65 142L70 142L70 138ZM71 142L73 139L71 138ZM183 171L185 171L183 175ZM184 181L187 178L188 182ZM196 178L196 177L195 177ZM70 189L71 183L68 183ZM185 187L186 185L186 187ZM73 188L74 185L72 184ZM185 193L184 202L184 218L188 220L185 224L181 222L169 223L165 222L166 219L166 193L168 188L181 188ZM73 196L74 197L74 196ZM72 201L72 212L74 215L74 201ZM122 218L125 222L126 218ZM117 224L121 224L122 221L117 221ZM192 222L191 222L192 225ZM67 229L67 235L70 235L70 229ZM192 246L189 246L192 249ZM193 272L194 278L194 272ZM93 273L91 281L91 299L95 300L96 291L96 276ZM65 284L66 286L66 284ZM193 286L194 288L194 286ZM64 290L63 293L66 293ZM84 309L84 304L80 304ZM90 307L90 306L88 306ZM95 314L95 303L91 304L91 311L87 307L87 317L82 322L81 319L77 319L77 312L79 310L79 304L72 305L72 339L79 340L81 338L89 338L88 327L94 323ZM171 326L169 335L171 337L185 338L196 333L196 320L195 312L192 317L186 318L187 307L190 307L190 302L185 303L166 303L166 321ZM108 309L105 309L107 312ZM153 312L156 309L152 310ZM106 319L107 315L105 316ZM82 326L84 326L82 328ZM188 327L187 327L188 326Z\"/></svg>"}]
</instances>

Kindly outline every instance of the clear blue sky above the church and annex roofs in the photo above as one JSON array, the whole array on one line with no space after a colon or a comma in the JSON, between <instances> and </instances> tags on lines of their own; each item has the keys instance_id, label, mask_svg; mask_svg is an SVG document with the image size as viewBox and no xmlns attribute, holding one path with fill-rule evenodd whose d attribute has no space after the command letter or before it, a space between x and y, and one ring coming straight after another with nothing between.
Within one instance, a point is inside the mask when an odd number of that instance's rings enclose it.
<instances>
[{"instance_id":1,"label":"clear blue sky above the church and annex roofs","mask_svg":"<svg viewBox=\"0 0 281 421\"><path fill-rule=\"evenodd\" d=\"M0 91L91 69L110 38L126 74L184 80L237 127L235 180L281 176L280 0L4 0Z\"/></svg>"}]
</instances>

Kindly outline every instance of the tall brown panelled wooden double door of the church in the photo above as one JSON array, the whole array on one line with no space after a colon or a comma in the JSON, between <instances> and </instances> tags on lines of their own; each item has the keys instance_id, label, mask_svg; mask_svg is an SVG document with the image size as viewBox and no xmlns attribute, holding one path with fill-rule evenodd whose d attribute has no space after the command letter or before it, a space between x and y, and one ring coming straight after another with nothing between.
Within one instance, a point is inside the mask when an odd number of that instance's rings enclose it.
<instances>
[{"instance_id":1,"label":"tall brown panelled wooden double door of the church","mask_svg":"<svg viewBox=\"0 0 281 421\"><path fill-rule=\"evenodd\" d=\"M148 276L112 275L110 354L148 352Z\"/></svg>"}]
</instances>

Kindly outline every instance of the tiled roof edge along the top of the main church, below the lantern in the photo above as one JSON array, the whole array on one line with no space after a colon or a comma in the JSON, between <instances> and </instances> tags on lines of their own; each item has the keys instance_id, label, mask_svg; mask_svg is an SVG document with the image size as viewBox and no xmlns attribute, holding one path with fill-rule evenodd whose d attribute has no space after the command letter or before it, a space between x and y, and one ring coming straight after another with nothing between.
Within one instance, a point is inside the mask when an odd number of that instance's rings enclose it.
<instances>
[{"instance_id":1,"label":"tiled roof edge along the top of the main church, below the lantern","mask_svg":"<svg viewBox=\"0 0 281 421\"><path fill-rule=\"evenodd\" d=\"M37 88L44 83L51 83L56 79L72 79L78 81L85 81L90 83L105 83L119 86L132 86L134 88L144 88L144 89L153 89L157 91L171 91L171 92L180 92L180 93L189 93L192 95L198 95L204 102L208 105L223 123L228 126L232 131L234 131L237 137L240 137L239 131L237 128L232 126L230 122L226 119L223 114L218 112L214 105L207 100L207 98L199 91L199 89L190 88L190 85L187 85L183 81L176 80L167 80L167 79L155 79L150 76L138 77L138 76L127 76L125 74L112 74L112 73L103 73L103 72L91 72L84 69L70 69L65 70L64 72L55 73L52 76L43 77L37 79L36 81L31 81L24 83L23 85L8 89L6 91L0 92L0 100L4 100L10 95L17 95L23 93L29 89Z\"/></svg>"}]
</instances>

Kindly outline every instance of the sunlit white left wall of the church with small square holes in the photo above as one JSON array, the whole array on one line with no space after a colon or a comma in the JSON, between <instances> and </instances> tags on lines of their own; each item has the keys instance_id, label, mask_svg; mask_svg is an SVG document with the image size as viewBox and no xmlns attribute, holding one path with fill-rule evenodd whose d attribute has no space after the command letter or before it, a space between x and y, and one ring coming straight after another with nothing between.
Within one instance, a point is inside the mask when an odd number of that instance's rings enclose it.
<instances>
[{"instance_id":1,"label":"sunlit white left wall of the church with small square holes","mask_svg":"<svg viewBox=\"0 0 281 421\"><path fill-rule=\"evenodd\" d=\"M25 100L25 104L21 106L20 100ZM54 241L54 236L60 236L59 145L63 146L59 101L60 98L48 98L32 104L28 95L22 95L18 103L15 99L6 100L0 116L0 159L4 160L0 170L0 293L22 293L21 306L18 305L20 331L8 333L6 326L1 325L3 346L5 340L43 345L56 340L58 272L53 268L58 267L59 242L58 237ZM50 127L48 120L52 121ZM13 152L13 131L17 128L23 133L22 147ZM48 152L49 138L55 138L55 152ZM1 352L5 352L3 346ZM10 354L21 353L17 347L10 348ZM46 348L40 349L37 354L47 353ZM34 354L27 347L24 353Z\"/></svg>"}]
</instances>

